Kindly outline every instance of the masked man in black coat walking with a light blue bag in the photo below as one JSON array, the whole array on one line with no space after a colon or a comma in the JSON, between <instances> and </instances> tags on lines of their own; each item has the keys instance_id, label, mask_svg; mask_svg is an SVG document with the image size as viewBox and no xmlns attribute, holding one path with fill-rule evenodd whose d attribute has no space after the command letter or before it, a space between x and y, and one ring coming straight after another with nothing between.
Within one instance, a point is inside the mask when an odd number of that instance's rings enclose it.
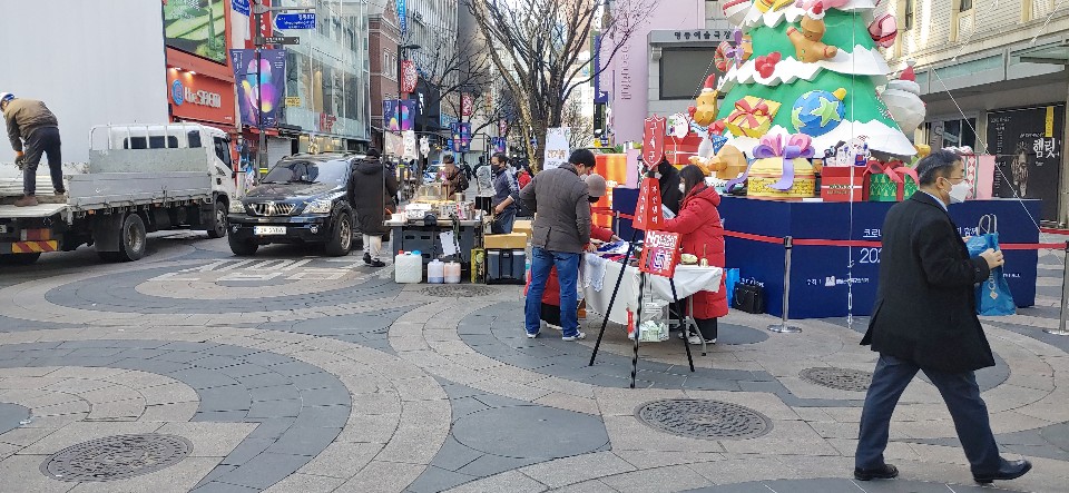
<instances>
[{"instance_id":1,"label":"masked man in black coat walking with a light blue bag","mask_svg":"<svg viewBox=\"0 0 1069 493\"><path fill-rule=\"evenodd\" d=\"M964 200L969 185L958 155L940 150L916 168L920 191L887 211L883 223L880 286L869 332L861 344L880 353L861 414L854 477L891 479L883 461L891 414L906 385L923 371L939 388L979 483L1020 477L1028 461L999 455L988 408L973 371L994 365L977 318L974 285L1002 265L1002 253L977 258L947 213Z\"/></svg>"}]
</instances>

